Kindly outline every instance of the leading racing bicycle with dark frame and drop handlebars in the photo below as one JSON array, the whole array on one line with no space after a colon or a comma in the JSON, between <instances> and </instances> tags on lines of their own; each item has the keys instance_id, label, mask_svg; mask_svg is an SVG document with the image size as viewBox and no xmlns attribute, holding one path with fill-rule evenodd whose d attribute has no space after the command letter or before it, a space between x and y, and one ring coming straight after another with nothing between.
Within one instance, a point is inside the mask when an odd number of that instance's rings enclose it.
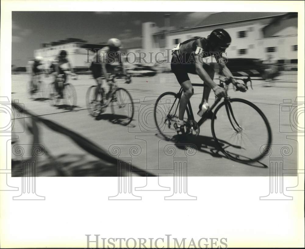
<instances>
[{"instance_id":1,"label":"leading racing bicycle with dark frame and drop handlebars","mask_svg":"<svg viewBox=\"0 0 305 249\"><path fill-rule=\"evenodd\" d=\"M188 102L184 118L186 136L198 136L200 126L211 118L213 139L220 151L237 162L253 163L267 155L272 141L271 127L267 117L255 104L244 99L230 98L227 95L232 79L242 80L247 89L247 82L250 82L252 88L249 76L247 78L219 77L219 86L225 89L226 95L223 98L215 97L213 105L198 122L195 121L191 103ZM203 86L203 84L192 85ZM182 93L182 88L178 93L163 93L155 103L156 127L163 137L169 140L176 134ZM222 102L221 99L223 99Z\"/></svg>"}]
</instances>

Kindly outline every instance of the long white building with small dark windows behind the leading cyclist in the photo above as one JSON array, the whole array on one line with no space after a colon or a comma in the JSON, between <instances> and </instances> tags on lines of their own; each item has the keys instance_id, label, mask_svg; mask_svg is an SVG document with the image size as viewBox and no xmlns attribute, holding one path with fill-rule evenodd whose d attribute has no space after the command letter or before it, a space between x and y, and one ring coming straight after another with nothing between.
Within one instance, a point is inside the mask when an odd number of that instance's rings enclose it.
<instances>
[{"instance_id":1,"label":"long white building with small dark windows behind the leading cyclist","mask_svg":"<svg viewBox=\"0 0 305 249\"><path fill-rule=\"evenodd\" d=\"M155 59L158 52L158 60L162 55L164 59L171 58L169 49L178 43L195 36L207 37L217 28L231 35L232 42L226 51L228 58L265 60L271 54L280 63L297 63L297 13L220 12L211 14L196 27L162 31L155 23L147 22L142 24L142 47L130 48L127 52L144 52L146 61L149 57Z\"/></svg>"}]
</instances>

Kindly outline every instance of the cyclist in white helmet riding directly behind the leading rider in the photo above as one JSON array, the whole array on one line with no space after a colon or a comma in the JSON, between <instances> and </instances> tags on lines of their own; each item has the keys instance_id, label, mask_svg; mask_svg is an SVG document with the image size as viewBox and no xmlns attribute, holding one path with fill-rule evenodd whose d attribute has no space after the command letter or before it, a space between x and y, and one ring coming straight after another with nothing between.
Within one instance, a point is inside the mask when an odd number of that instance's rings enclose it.
<instances>
[{"instance_id":1,"label":"cyclist in white helmet riding directly behind the leading rider","mask_svg":"<svg viewBox=\"0 0 305 249\"><path fill-rule=\"evenodd\" d=\"M96 100L96 98L98 96L99 89L103 88L102 76L105 77L106 82L110 87L108 93L111 92L112 84L111 79L109 78L109 74L112 75L114 73L114 68L111 64L118 61L120 63L120 66L122 67L122 73L126 75L125 68L122 62L122 53L120 52L121 41L117 38L111 38L108 40L107 45L108 46L103 47L97 53L96 59L91 62L90 67L93 74L93 78L95 79L98 85L98 87L96 87L95 89L95 101L93 103L95 106L99 105L99 102Z\"/></svg>"}]
</instances>

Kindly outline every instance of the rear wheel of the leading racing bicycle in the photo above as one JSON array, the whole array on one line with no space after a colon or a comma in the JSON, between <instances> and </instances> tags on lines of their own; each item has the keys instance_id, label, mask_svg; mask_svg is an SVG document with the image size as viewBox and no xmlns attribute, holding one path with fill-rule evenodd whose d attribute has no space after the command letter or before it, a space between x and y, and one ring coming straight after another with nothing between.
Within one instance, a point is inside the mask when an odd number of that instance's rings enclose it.
<instances>
[{"instance_id":1,"label":"rear wheel of the leading racing bicycle","mask_svg":"<svg viewBox=\"0 0 305 249\"><path fill-rule=\"evenodd\" d=\"M179 115L180 97L177 93L162 93L156 100L154 108L154 118L156 123L156 131L166 139L171 139L176 135L176 122ZM190 114L188 108L185 111L184 121L186 122Z\"/></svg>"}]
</instances>

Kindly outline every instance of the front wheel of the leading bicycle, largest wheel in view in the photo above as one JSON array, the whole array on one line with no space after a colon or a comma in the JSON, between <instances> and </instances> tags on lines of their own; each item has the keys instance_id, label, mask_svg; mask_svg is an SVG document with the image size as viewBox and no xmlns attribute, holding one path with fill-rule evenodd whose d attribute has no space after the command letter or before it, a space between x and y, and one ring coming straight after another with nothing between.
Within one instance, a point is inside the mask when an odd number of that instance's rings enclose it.
<instances>
[{"instance_id":1,"label":"front wheel of the leading bicycle, largest wheel in view","mask_svg":"<svg viewBox=\"0 0 305 249\"><path fill-rule=\"evenodd\" d=\"M221 152L237 162L256 162L271 146L271 127L267 117L247 100L222 102L215 109L211 129Z\"/></svg>"}]
</instances>

